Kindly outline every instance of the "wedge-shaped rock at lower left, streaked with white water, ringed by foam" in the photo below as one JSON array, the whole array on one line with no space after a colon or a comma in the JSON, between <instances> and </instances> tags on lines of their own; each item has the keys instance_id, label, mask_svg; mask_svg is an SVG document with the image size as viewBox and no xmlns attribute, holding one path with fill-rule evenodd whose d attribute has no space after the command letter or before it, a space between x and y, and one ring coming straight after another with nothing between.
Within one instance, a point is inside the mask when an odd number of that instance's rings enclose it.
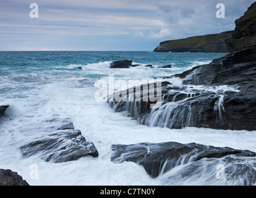
<instances>
[{"instance_id":1,"label":"wedge-shaped rock at lower left, streaked with white water, ringed by foam","mask_svg":"<svg viewBox=\"0 0 256 198\"><path fill-rule=\"evenodd\" d=\"M45 161L62 163L65 161L78 160L88 155L98 157L99 153L92 142L87 142L80 130L73 129L73 123L68 120L62 121L63 126L52 127L57 130L33 142L22 146L23 157L38 155Z\"/></svg>"}]
</instances>

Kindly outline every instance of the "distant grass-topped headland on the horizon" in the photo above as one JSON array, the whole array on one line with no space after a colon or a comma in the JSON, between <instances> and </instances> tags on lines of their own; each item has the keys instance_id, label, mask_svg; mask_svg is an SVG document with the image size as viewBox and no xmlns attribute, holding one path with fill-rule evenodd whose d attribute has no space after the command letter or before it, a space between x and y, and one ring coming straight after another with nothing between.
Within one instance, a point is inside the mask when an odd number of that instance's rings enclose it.
<instances>
[{"instance_id":1,"label":"distant grass-topped headland on the horizon","mask_svg":"<svg viewBox=\"0 0 256 198\"><path fill-rule=\"evenodd\" d=\"M189 37L178 40L163 41L154 49L154 52L212 52L212 53L228 53L229 49L225 44L225 40L230 38L232 31L203 35L197 37Z\"/></svg>"}]
</instances>

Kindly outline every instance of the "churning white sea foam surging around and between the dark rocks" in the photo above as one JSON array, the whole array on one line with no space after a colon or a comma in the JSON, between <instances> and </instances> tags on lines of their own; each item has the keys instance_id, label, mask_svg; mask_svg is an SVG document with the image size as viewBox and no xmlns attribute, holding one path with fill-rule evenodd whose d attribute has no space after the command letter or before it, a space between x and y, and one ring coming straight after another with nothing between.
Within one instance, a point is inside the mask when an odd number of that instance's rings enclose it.
<instances>
[{"instance_id":1,"label":"churning white sea foam surging around and between the dark rocks","mask_svg":"<svg viewBox=\"0 0 256 198\"><path fill-rule=\"evenodd\" d=\"M170 74L162 69L134 67L128 70L109 69L110 62L79 65L71 64L66 69L81 67L75 76L60 73L50 77L51 82L35 85L36 89L19 90L25 97L17 97L17 93L6 93L0 98L0 104L10 105L6 116L1 118L0 128L0 167L17 171L30 185L166 185L166 184L223 184L222 180L213 178L213 171L199 170L187 178L180 165L157 179L152 179L142 166L132 162L121 164L110 160L111 144L136 144L140 142L180 142L183 144L214 145L216 147L232 147L256 152L255 131L231 131L187 127L185 129L168 129L148 127L137 124L137 121L114 113L107 103L94 100L96 88L89 84L85 75L100 74L107 79L114 74L117 79L151 79ZM65 67L64 67L65 69ZM124 72L126 71L126 72ZM68 79L68 80L63 80ZM103 75L103 76L102 76ZM89 78L91 79L91 78ZM43 80L43 79L42 79ZM180 85L179 79L171 79L173 84ZM237 87L191 86L219 93L225 90L239 92ZM221 101L217 104L221 108ZM36 155L23 158L19 147L52 131L45 130L50 119L70 118L75 129L80 129L89 142L93 142L99 152L98 158L84 157L65 163L47 163ZM249 160L250 161L250 160ZM211 166L219 161L215 161ZM250 161L251 163L251 161ZM39 179L30 178L30 165L39 167ZM205 165L209 162L206 161ZM214 167L214 166L213 166ZM168 179L172 177L172 179ZM211 178L211 183L206 180ZM234 181L233 184L239 184Z\"/></svg>"}]
</instances>

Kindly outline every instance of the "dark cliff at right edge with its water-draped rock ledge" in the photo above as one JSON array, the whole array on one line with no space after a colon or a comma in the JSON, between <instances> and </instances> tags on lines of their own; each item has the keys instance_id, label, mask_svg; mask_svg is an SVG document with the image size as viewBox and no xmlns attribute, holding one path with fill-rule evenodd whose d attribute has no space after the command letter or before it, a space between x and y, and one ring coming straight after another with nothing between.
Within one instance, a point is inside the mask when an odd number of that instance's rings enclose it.
<instances>
[{"instance_id":1,"label":"dark cliff at right edge with its water-draped rock ledge","mask_svg":"<svg viewBox=\"0 0 256 198\"><path fill-rule=\"evenodd\" d=\"M162 84L159 110L151 111L149 102L142 101L143 95L140 101L111 101L109 106L116 112L127 111L127 116L148 126L256 130L256 2L235 23L232 37L226 40L231 53L164 77L178 77L183 85ZM198 86L204 86L203 92ZM227 90L215 90L217 86Z\"/></svg>"}]
</instances>

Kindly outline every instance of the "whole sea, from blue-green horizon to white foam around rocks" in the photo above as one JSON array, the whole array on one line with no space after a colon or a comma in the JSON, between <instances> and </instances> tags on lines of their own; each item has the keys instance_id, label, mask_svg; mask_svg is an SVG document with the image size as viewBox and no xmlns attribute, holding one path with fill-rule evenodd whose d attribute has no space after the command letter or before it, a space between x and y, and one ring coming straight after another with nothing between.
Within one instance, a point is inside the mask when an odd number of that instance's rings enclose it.
<instances>
[{"instance_id":1,"label":"whole sea, from blue-green horizon to white foam around rocks","mask_svg":"<svg viewBox=\"0 0 256 198\"><path fill-rule=\"evenodd\" d=\"M133 162L113 163L112 144L180 142L213 145L256 152L255 131L231 131L185 127L169 129L138 124L115 113L106 101L95 98L98 80L149 80L179 74L208 64L226 53L153 53L152 51L1 51L0 106L10 105L0 119L0 168L16 171L32 186L71 185L243 185L250 178L217 178L216 163L200 160L178 165L152 178L143 166ZM113 61L132 60L140 66L111 69ZM153 68L145 67L152 65ZM171 65L171 68L160 68ZM182 84L171 79L173 84ZM69 118L99 157L50 163L37 155L22 157L22 145L50 132L48 121ZM255 160L248 160L255 171ZM193 168L191 168L193 167ZM37 168L37 175L32 171ZM251 169L250 169L251 168Z\"/></svg>"}]
</instances>

